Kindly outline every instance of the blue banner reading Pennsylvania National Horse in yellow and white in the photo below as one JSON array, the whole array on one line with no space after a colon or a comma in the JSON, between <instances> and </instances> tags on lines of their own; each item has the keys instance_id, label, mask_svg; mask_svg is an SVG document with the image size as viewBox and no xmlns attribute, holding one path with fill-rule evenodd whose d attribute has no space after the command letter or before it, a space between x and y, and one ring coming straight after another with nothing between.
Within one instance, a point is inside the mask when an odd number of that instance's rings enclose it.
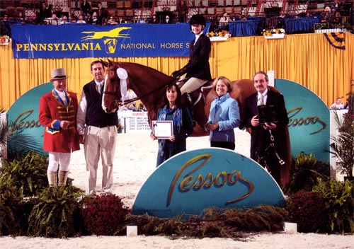
<instances>
[{"instance_id":1,"label":"blue banner reading Pennsylvania National Horse in yellow and white","mask_svg":"<svg viewBox=\"0 0 354 249\"><path fill-rule=\"evenodd\" d=\"M188 23L12 25L11 32L16 59L188 57L194 39Z\"/></svg>"}]
</instances>

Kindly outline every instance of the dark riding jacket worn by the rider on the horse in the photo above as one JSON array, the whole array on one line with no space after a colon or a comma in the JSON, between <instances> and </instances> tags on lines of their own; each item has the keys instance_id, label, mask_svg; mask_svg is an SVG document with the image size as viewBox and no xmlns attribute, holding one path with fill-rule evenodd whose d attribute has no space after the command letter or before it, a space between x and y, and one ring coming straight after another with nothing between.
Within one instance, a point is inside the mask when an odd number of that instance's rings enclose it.
<instances>
[{"instance_id":1,"label":"dark riding jacket worn by the rider on the horse","mask_svg":"<svg viewBox=\"0 0 354 249\"><path fill-rule=\"evenodd\" d=\"M187 73L186 77L195 77L210 81L212 74L210 73L209 56L212 45L209 37L202 34L195 43L195 39L189 45L189 61L183 66L181 74Z\"/></svg>"}]
</instances>

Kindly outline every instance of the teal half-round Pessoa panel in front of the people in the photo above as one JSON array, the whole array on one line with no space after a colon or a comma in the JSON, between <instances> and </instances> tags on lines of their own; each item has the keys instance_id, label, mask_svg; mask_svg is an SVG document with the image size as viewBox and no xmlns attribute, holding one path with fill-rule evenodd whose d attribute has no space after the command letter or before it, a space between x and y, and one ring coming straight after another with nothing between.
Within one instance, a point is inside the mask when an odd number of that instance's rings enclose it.
<instances>
[{"instance_id":1,"label":"teal half-round Pessoa panel in front of the people","mask_svg":"<svg viewBox=\"0 0 354 249\"><path fill-rule=\"evenodd\" d=\"M208 207L241 208L285 203L282 190L258 163L227 149L173 156L142 185L132 214L199 215Z\"/></svg>"}]
</instances>

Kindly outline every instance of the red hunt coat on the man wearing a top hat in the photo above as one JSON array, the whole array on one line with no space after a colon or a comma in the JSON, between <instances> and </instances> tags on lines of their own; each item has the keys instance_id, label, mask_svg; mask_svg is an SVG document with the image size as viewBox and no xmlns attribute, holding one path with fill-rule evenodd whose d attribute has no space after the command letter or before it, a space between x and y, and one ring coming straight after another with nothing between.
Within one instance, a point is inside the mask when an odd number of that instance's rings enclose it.
<instances>
[{"instance_id":1,"label":"red hunt coat on the man wearing a top hat","mask_svg":"<svg viewBox=\"0 0 354 249\"><path fill-rule=\"evenodd\" d=\"M67 91L67 103L65 106L54 89L40 98L39 121L45 127L44 151L69 153L80 149L76 132L76 93ZM62 120L69 120L69 127L60 127Z\"/></svg>"}]
</instances>

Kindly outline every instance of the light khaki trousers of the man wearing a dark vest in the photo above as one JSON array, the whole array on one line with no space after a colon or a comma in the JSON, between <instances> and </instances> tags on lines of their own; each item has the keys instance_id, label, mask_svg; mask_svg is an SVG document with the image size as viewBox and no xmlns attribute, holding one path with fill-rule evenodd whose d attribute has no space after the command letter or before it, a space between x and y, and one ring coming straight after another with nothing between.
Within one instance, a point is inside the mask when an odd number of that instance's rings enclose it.
<instances>
[{"instance_id":1,"label":"light khaki trousers of the man wearing a dark vest","mask_svg":"<svg viewBox=\"0 0 354 249\"><path fill-rule=\"evenodd\" d=\"M86 194L96 192L98 161L101 155L102 190L111 192L113 185L113 159L118 132L117 127L85 128L84 153L86 158Z\"/></svg>"}]
</instances>

